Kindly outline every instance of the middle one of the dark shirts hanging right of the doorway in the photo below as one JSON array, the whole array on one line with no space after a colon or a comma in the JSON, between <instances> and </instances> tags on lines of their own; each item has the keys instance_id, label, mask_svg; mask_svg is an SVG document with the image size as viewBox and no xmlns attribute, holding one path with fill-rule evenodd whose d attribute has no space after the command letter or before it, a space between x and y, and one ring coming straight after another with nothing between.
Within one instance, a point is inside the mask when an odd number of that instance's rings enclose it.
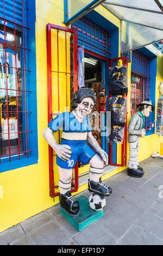
<instances>
[{"instance_id":1,"label":"middle one of the dark shirts hanging right of the doorway","mask_svg":"<svg viewBox=\"0 0 163 256\"><path fill-rule=\"evenodd\" d=\"M127 113L127 100L122 97L109 99L109 111L111 111L111 125L125 126Z\"/></svg>"}]
</instances>

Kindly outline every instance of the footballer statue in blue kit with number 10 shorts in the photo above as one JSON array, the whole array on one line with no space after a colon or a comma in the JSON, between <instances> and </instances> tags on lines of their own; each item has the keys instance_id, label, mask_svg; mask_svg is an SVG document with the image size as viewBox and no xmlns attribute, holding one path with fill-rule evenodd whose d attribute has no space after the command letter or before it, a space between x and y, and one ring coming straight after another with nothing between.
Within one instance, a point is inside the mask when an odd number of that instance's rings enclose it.
<instances>
[{"instance_id":1,"label":"footballer statue in blue kit with number 10 shorts","mask_svg":"<svg viewBox=\"0 0 163 256\"><path fill-rule=\"evenodd\" d=\"M79 202L71 195L72 170L77 160L90 164L88 190L101 197L110 196L112 189L101 180L104 164L108 164L108 154L99 147L92 136L92 127L88 115L96 104L96 95L92 90L83 88L74 93L71 100L71 112L57 115L43 131L47 143L57 154L59 169L59 201L69 214L77 215ZM62 129L61 143L57 144L53 132ZM95 151L90 147L95 149Z\"/></svg>"}]
</instances>

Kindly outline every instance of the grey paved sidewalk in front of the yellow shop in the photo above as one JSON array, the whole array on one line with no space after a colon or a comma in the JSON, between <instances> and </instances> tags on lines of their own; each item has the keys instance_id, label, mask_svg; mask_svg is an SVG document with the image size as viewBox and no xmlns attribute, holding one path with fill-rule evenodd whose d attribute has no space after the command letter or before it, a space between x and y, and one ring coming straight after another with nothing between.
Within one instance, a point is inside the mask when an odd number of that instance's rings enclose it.
<instances>
[{"instance_id":1,"label":"grey paved sidewalk in front of the yellow shop","mask_svg":"<svg viewBox=\"0 0 163 256\"><path fill-rule=\"evenodd\" d=\"M80 233L55 205L0 233L0 245L163 245L163 160L140 165L141 179L123 171L105 180L113 192L104 215ZM90 196L86 190L76 197L82 194Z\"/></svg>"}]
</instances>

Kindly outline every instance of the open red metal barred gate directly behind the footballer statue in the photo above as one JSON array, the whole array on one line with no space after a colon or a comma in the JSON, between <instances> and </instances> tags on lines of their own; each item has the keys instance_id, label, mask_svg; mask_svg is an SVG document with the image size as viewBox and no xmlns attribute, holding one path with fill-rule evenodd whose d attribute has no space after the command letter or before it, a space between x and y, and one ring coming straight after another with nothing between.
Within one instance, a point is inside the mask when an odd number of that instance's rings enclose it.
<instances>
[{"instance_id":1,"label":"open red metal barred gate directly behind the footballer statue","mask_svg":"<svg viewBox=\"0 0 163 256\"><path fill-rule=\"evenodd\" d=\"M52 46L51 46L51 30L57 29L57 47L58 47L58 70L52 70ZM64 72L67 77L67 39L66 34L71 33L71 38L73 39L73 88L74 92L78 89L78 82L77 82L77 32L74 29L56 26L53 24L47 25L47 100L48 100L48 123L52 120L52 115L56 113L52 113L52 72L56 72L58 74L58 99L59 99L59 74L62 73L59 71L59 39L58 39L58 33L59 31L65 32L65 50L66 50L66 71ZM70 74L70 73L69 73ZM66 80L66 96L67 96L67 80ZM67 101L66 101L66 107L67 107ZM59 108L59 105L58 105ZM58 114L58 113L57 113ZM59 196L59 193L55 193L55 188L58 188L58 186L55 186L54 184L54 170L53 170L53 149L49 146L48 147L48 153L49 153L49 194L50 197L54 198ZM72 179L73 180L73 179ZM76 164L76 167L74 168L74 182L72 182L72 185L74 186L74 189L71 190L71 192L77 192L78 191L78 162Z\"/></svg>"}]
</instances>

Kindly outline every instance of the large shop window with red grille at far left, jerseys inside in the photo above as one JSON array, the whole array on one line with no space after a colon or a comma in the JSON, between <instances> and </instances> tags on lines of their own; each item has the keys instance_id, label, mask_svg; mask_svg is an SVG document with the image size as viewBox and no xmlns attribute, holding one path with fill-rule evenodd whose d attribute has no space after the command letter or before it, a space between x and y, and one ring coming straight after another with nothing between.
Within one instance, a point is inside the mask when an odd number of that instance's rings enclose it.
<instances>
[{"instance_id":1,"label":"large shop window with red grille at far left, jerseys inside","mask_svg":"<svg viewBox=\"0 0 163 256\"><path fill-rule=\"evenodd\" d=\"M26 69L26 51L30 50L25 40L29 28L25 26L24 3L21 0L0 1L0 163L3 158L11 161L14 155L19 160L24 154L29 157L32 151L28 147L28 132L32 131L28 130L27 117L30 113L27 111L27 93L30 91L27 90L26 74L30 71Z\"/></svg>"}]
</instances>

